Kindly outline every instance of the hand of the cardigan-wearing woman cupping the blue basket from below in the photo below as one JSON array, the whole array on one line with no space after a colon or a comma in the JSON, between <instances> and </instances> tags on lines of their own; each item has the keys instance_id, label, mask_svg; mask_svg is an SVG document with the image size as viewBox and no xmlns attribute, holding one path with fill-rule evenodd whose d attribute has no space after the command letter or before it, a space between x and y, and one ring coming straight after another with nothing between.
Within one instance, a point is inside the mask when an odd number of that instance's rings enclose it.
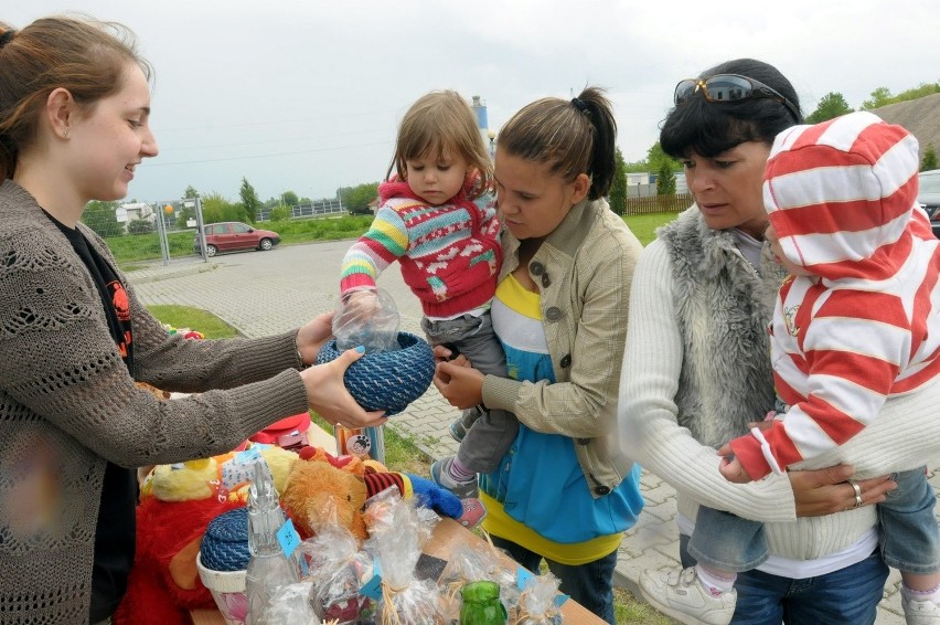
<instances>
[{"instance_id":1,"label":"hand of the cardigan-wearing woman cupping the blue basket from below","mask_svg":"<svg viewBox=\"0 0 940 625\"><path fill-rule=\"evenodd\" d=\"M388 421L382 416L385 411L365 412L346 391L343 374L362 356L363 352L359 350L348 349L335 360L300 372L310 407L329 423L349 430L382 425Z\"/></svg>"}]
</instances>

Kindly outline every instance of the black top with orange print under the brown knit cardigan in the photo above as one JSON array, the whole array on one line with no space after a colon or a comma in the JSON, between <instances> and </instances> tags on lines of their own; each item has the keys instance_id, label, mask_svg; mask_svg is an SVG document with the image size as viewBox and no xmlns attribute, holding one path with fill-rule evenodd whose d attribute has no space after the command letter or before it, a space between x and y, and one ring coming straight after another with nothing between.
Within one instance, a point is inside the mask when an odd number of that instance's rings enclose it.
<instances>
[{"instance_id":1,"label":"black top with orange print under the brown knit cardigan","mask_svg":"<svg viewBox=\"0 0 940 625\"><path fill-rule=\"evenodd\" d=\"M77 229L61 224L52 215L49 218L68 239L75 253L92 274L102 297L111 338L115 339L128 370L132 370L130 309L127 292L117 272L88 244L85 235ZM113 615L127 592L127 578L133 565L137 497L136 472L108 462L102 487L102 501L98 505L98 525L95 529L92 608L88 617L90 623Z\"/></svg>"}]
</instances>

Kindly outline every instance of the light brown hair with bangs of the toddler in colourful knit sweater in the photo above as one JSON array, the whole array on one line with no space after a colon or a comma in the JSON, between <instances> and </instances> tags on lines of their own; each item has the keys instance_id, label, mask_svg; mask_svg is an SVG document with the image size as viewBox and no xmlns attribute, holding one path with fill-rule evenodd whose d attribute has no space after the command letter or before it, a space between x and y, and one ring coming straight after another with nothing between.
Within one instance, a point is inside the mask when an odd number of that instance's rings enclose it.
<instances>
[{"instance_id":1,"label":"light brown hair with bangs of the toddler in colourful knit sweater","mask_svg":"<svg viewBox=\"0 0 940 625\"><path fill-rule=\"evenodd\" d=\"M470 189L470 199L477 199L492 187L493 161L487 152L473 109L457 92L430 92L419 97L402 119L388 176L394 169L399 179L407 180L408 159L425 153L441 158L447 150L457 151L474 174L479 174Z\"/></svg>"}]
</instances>

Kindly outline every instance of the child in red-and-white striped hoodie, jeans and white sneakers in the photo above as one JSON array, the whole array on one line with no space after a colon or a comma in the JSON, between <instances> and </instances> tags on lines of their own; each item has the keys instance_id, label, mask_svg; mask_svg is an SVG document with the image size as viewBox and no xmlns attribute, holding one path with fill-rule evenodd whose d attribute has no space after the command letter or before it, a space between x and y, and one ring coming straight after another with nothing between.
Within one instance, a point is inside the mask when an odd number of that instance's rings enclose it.
<instances>
[{"instance_id":1,"label":"child in red-and-white striped hoodie, jeans and white sneakers","mask_svg":"<svg viewBox=\"0 0 940 625\"><path fill-rule=\"evenodd\" d=\"M729 481L779 475L831 452L886 402L940 383L940 242L917 203L917 140L867 112L778 135L765 171L765 237L790 273L770 327L787 407L718 449ZM893 476L898 488L878 505L882 557L901 571L907 623L940 623L936 496L926 467L909 468ZM858 484L848 485L863 506ZM699 509L690 542L697 564L680 578L706 592L683 622L730 621L736 573L768 558L761 527Z\"/></svg>"}]
</instances>

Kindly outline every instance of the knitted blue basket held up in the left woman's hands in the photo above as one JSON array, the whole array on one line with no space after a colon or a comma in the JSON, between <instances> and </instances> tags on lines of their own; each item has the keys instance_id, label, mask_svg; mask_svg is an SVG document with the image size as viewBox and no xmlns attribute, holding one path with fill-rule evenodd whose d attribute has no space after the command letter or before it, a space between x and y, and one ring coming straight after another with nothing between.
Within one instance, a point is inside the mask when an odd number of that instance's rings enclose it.
<instances>
[{"instance_id":1,"label":"knitted blue basket held up in the left woman's hands","mask_svg":"<svg viewBox=\"0 0 940 625\"><path fill-rule=\"evenodd\" d=\"M384 410L398 414L430 386L434 378L434 351L423 338L398 332L400 349L366 353L349 369L343 381L356 403L367 411ZM320 349L317 364L340 356L337 341Z\"/></svg>"}]
</instances>

